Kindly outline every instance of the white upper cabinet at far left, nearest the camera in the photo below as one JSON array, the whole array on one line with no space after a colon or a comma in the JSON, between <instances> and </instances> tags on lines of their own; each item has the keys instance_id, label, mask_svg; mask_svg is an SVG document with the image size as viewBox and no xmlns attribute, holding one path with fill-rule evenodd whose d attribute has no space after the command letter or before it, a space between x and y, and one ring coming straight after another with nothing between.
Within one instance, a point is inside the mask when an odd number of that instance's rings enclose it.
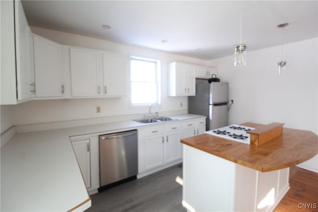
<instances>
[{"instance_id":1,"label":"white upper cabinet at far left, nearest the camera","mask_svg":"<svg viewBox=\"0 0 318 212\"><path fill-rule=\"evenodd\" d=\"M32 36L21 1L1 1L1 104L31 99ZM31 46L30 46L31 45Z\"/></svg>"}]
</instances>

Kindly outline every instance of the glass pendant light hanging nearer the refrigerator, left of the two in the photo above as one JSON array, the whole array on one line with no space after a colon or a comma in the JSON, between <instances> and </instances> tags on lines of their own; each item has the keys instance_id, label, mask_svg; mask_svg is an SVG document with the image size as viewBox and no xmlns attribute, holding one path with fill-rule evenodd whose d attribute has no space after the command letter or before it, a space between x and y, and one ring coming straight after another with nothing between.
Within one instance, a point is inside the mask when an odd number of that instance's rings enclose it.
<instances>
[{"instance_id":1,"label":"glass pendant light hanging nearer the refrigerator, left of the two","mask_svg":"<svg viewBox=\"0 0 318 212\"><path fill-rule=\"evenodd\" d=\"M242 9L239 16L239 44L235 45L234 66L242 67L246 65L246 44L242 44Z\"/></svg>"}]
</instances>

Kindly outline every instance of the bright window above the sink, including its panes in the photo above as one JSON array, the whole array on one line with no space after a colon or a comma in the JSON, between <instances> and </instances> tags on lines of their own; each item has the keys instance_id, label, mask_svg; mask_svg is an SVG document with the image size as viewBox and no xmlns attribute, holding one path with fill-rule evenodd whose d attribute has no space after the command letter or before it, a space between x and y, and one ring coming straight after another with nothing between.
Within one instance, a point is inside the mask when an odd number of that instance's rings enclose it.
<instances>
[{"instance_id":1,"label":"bright window above the sink, including its panes","mask_svg":"<svg viewBox=\"0 0 318 212\"><path fill-rule=\"evenodd\" d=\"M148 105L160 103L159 69L157 60L132 57L130 60L131 103Z\"/></svg>"}]
</instances>

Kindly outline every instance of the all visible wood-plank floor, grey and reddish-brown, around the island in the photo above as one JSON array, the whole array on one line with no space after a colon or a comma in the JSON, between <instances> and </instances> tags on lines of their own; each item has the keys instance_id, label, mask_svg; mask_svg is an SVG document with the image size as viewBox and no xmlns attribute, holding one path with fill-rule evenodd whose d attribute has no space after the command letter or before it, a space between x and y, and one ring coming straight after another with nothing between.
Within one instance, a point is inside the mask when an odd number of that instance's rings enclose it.
<instances>
[{"instance_id":1,"label":"all visible wood-plank floor, grey and reddish-brown, around the island","mask_svg":"<svg viewBox=\"0 0 318 212\"><path fill-rule=\"evenodd\" d=\"M182 178L182 168L176 165L91 195L86 212L186 212L177 176ZM290 187L274 212L318 211L318 173L294 167Z\"/></svg>"}]
</instances>

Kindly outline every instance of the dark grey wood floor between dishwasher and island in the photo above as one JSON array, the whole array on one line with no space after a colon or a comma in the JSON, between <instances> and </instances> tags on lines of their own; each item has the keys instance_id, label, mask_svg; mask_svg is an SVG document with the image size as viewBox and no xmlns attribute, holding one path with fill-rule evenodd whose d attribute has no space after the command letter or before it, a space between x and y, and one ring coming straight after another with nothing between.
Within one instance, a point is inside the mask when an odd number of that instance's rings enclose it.
<instances>
[{"instance_id":1,"label":"dark grey wood floor between dishwasher and island","mask_svg":"<svg viewBox=\"0 0 318 212\"><path fill-rule=\"evenodd\" d=\"M85 212L186 212L182 207L182 178L177 165L90 196Z\"/></svg>"}]
</instances>

